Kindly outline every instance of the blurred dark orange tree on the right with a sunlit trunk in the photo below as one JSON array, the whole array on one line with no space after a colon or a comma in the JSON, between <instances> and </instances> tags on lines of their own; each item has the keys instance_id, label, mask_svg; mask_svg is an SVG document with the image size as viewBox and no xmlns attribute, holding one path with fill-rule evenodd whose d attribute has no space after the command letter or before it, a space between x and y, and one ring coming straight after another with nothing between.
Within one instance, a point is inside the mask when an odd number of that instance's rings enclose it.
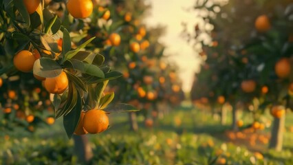
<instances>
[{"instance_id":1,"label":"blurred dark orange tree on the right with a sunlit trunk","mask_svg":"<svg viewBox=\"0 0 293 165\"><path fill-rule=\"evenodd\" d=\"M204 24L214 27L205 30L199 24L193 35L195 43L204 45L201 55L204 68L208 70L202 69L196 83L212 82L206 85L202 95L223 95L228 102L243 102L254 112L256 121L265 108L272 107L274 123L270 147L280 150L283 114L289 105L292 82L290 2L229 1L217 4L197 1L195 8L210 11L207 17L204 16ZM210 45L199 37L202 34L210 34ZM236 109L233 112L233 127L236 127Z\"/></svg>"}]
</instances>

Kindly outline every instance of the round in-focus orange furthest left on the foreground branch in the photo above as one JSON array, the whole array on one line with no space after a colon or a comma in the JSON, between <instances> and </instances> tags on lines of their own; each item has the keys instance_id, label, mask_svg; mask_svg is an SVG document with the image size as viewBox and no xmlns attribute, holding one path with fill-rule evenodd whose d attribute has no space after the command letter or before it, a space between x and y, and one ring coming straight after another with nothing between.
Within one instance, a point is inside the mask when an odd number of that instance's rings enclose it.
<instances>
[{"instance_id":1,"label":"round in-focus orange furthest left on the foreground branch","mask_svg":"<svg viewBox=\"0 0 293 165\"><path fill-rule=\"evenodd\" d=\"M28 50L21 50L13 58L14 66L21 72L31 72L34 61L34 55Z\"/></svg>"}]
</instances>

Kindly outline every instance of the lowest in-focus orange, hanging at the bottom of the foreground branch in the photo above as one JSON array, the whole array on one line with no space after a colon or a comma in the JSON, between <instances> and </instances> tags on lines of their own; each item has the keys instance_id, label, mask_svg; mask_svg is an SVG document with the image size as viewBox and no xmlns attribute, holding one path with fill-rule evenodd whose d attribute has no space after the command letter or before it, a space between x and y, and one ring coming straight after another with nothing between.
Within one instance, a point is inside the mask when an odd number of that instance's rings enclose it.
<instances>
[{"instance_id":1,"label":"lowest in-focus orange, hanging at the bottom of the foreground branch","mask_svg":"<svg viewBox=\"0 0 293 165\"><path fill-rule=\"evenodd\" d=\"M85 113L83 127L89 133L101 133L108 129L109 118L105 111L91 109Z\"/></svg>"}]
</instances>

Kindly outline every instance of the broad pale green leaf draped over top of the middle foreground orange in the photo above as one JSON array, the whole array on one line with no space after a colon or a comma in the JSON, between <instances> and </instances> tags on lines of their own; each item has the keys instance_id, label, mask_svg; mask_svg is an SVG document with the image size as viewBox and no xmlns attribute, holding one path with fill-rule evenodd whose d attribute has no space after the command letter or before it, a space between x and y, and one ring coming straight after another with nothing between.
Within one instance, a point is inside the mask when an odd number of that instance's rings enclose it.
<instances>
[{"instance_id":1,"label":"broad pale green leaf draped over top of the middle foreground orange","mask_svg":"<svg viewBox=\"0 0 293 165\"><path fill-rule=\"evenodd\" d=\"M62 67L52 58L42 57L34 62L33 72L37 76L53 78L61 74Z\"/></svg>"}]
</instances>

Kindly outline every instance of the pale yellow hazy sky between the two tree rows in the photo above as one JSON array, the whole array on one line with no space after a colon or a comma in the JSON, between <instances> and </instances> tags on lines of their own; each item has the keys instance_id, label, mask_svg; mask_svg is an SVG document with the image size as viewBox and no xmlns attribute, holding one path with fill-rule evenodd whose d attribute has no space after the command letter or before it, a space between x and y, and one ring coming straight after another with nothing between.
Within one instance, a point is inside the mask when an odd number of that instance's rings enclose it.
<instances>
[{"instance_id":1,"label":"pale yellow hazy sky between the two tree rows","mask_svg":"<svg viewBox=\"0 0 293 165\"><path fill-rule=\"evenodd\" d=\"M182 21L193 25L195 15L184 9L191 8L194 0L148 0L151 3L151 15L147 17L146 24L166 25L166 35L161 41L167 45L166 54L172 55L170 59L180 66L180 78L183 80L183 90L189 91L193 83L195 70L198 68L199 60L196 52L180 36L182 32Z\"/></svg>"}]
</instances>

